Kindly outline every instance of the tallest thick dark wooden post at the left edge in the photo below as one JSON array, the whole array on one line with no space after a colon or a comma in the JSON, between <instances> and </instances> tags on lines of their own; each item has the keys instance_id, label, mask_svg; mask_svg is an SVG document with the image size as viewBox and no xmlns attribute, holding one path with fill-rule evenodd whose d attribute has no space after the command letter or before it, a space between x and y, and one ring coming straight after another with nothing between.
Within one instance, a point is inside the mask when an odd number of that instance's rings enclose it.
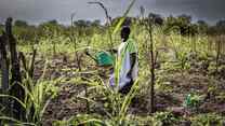
<instances>
[{"instance_id":1,"label":"tallest thick dark wooden post at the left edge","mask_svg":"<svg viewBox=\"0 0 225 126\"><path fill-rule=\"evenodd\" d=\"M5 32L10 45L10 56L12 64L11 67L12 79L10 81L12 87L10 90L10 95L16 97L21 101L24 101L25 90L22 88L22 86L19 86L19 84L22 84L21 66L16 51L16 40L12 33L12 22L13 19L10 17L6 19L5 23ZM23 121L25 118L25 110L17 101L12 102L12 109L13 109L13 117L19 121Z\"/></svg>"}]
</instances>

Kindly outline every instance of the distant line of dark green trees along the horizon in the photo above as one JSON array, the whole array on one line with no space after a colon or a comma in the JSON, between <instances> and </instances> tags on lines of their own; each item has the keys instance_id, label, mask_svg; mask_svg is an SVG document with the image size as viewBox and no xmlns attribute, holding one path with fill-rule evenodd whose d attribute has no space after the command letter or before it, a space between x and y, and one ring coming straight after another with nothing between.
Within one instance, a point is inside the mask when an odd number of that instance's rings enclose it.
<instances>
[{"instance_id":1,"label":"distant line of dark green trees along the horizon","mask_svg":"<svg viewBox=\"0 0 225 126\"><path fill-rule=\"evenodd\" d=\"M115 26L121 17L112 19L111 25ZM151 22L149 22L151 20ZM159 14L149 13L148 16L143 17L128 17L123 25L131 25L131 23L151 23L155 26L162 27L164 33L171 31L181 33L182 36L195 36L195 34L224 34L225 33L225 19L219 20L215 25L211 26L204 20L198 20L193 23L191 16L183 14L180 16L162 17ZM57 20L49 20L41 23L38 26L29 25L25 20L14 22L14 33L18 39L34 41L37 37L50 37L54 34L69 36L71 30L75 30L77 36L90 36L96 32L105 32L106 25L102 25L101 20L75 20L69 26L61 25ZM3 25L0 24L0 30ZM93 31L94 30L94 31Z\"/></svg>"}]
</instances>

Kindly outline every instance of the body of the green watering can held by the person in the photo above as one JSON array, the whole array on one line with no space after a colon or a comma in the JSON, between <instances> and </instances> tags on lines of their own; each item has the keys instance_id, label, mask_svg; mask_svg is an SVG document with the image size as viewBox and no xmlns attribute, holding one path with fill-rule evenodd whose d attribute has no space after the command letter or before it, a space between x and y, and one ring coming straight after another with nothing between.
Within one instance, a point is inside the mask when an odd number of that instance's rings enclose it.
<instances>
[{"instance_id":1,"label":"body of the green watering can held by the person","mask_svg":"<svg viewBox=\"0 0 225 126\"><path fill-rule=\"evenodd\" d=\"M108 52L98 52L95 54L95 59L98 66L112 66L115 57Z\"/></svg>"}]
</instances>

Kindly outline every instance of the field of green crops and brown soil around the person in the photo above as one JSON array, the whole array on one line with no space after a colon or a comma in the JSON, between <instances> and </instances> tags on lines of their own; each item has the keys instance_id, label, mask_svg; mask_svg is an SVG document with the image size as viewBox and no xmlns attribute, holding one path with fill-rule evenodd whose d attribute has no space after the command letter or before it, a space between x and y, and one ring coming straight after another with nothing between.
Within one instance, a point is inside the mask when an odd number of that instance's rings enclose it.
<instances>
[{"instance_id":1,"label":"field of green crops and brown soil around the person","mask_svg":"<svg viewBox=\"0 0 225 126\"><path fill-rule=\"evenodd\" d=\"M112 25L88 28L45 25L32 31L14 26L10 32L5 25L0 42L16 43L21 80L12 83L17 75L13 44L1 44L0 125L225 125L225 36L184 36L141 17L132 20L138 79L122 95L108 84L111 67L97 66L87 51L94 55L117 47L125 15ZM36 36L22 37L23 30ZM14 94L18 89L23 98Z\"/></svg>"}]
</instances>

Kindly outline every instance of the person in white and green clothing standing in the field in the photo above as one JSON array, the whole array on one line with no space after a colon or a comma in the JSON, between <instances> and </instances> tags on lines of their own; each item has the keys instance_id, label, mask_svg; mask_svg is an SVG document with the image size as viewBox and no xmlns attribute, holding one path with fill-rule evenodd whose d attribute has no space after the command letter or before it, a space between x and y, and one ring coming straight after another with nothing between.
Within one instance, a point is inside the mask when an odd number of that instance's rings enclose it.
<instances>
[{"instance_id":1,"label":"person in white and green clothing standing in the field","mask_svg":"<svg viewBox=\"0 0 225 126\"><path fill-rule=\"evenodd\" d=\"M119 72L119 93L128 94L137 78L138 61L137 47L133 39L130 38L131 29L128 26L122 27L121 40L117 51L118 59L120 60ZM110 86L116 86L115 73L109 79Z\"/></svg>"}]
</instances>

